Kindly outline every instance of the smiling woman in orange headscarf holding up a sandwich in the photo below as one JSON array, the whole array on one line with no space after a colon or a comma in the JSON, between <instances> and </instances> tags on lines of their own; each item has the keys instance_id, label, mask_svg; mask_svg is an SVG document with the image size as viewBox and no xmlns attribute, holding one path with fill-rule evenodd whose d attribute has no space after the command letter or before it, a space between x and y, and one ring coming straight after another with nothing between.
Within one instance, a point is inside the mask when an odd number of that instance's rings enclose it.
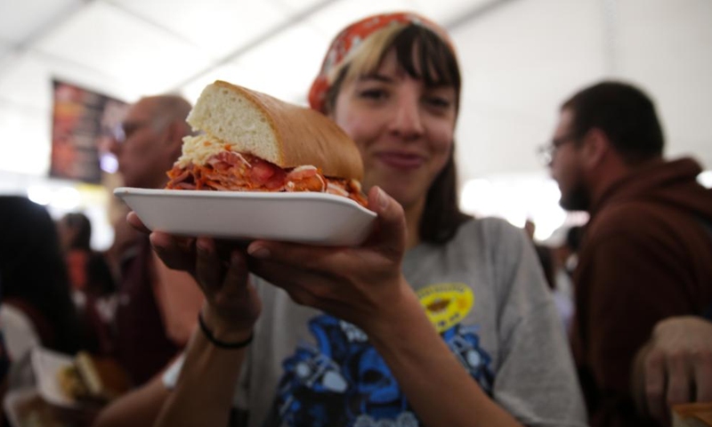
<instances>
[{"instance_id":1,"label":"smiling woman in orange headscarf holding up a sandwich","mask_svg":"<svg viewBox=\"0 0 712 427\"><path fill-rule=\"evenodd\" d=\"M459 94L432 22L394 13L344 29L310 103L357 142L375 233L336 250L255 241L227 271L212 239L153 233L203 287L202 331L177 382L179 365L99 425L123 413L224 426L233 392L247 425L585 425L530 242L457 209Z\"/></svg>"}]
</instances>

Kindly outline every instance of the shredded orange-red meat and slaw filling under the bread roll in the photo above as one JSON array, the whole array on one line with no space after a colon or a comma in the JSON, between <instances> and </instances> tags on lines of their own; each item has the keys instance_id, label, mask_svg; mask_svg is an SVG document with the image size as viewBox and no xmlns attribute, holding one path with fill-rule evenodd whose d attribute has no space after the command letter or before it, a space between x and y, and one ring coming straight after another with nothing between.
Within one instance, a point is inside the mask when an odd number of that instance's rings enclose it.
<instances>
[{"instance_id":1,"label":"shredded orange-red meat and slaw filling under the bread roll","mask_svg":"<svg viewBox=\"0 0 712 427\"><path fill-rule=\"evenodd\" d=\"M326 177L312 165L283 169L260 157L233 151L230 143L205 134L183 139L182 156L168 177L166 189L313 191L367 205L359 181Z\"/></svg>"}]
</instances>

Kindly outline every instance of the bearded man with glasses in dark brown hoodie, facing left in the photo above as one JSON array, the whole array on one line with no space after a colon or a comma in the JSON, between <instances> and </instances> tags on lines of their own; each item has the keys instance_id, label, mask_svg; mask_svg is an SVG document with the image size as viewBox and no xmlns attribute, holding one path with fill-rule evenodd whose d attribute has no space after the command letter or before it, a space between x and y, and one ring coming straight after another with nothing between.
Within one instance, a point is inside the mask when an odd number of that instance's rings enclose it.
<instances>
[{"instance_id":1,"label":"bearded man with glasses in dark brown hoodie, facing left","mask_svg":"<svg viewBox=\"0 0 712 427\"><path fill-rule=\"evenodd\" d=\"M562 207L590 214L571 342L594 427L657 425L635 411L635 353L661 319L712 302L712 191L700 165L664 160L663 145L651 100L604 82L563 103L547 148Z\"/></svg>"}]
</instances>

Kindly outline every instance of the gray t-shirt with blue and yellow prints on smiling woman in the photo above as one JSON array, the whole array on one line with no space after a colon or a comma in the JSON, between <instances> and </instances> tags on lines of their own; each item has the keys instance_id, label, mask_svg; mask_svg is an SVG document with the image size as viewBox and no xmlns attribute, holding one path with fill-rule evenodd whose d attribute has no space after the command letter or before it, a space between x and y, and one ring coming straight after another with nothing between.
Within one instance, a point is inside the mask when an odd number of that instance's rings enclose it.
<instances>
[{"instance_id":1,"label":"gray t-shirt with blue and yellow prints on smiling woman","mask_svg":"<svg viewBox=\"0 0 712 427\"><path fill-rule=\"evenodd\" d=\"M569 345L522 230L498 219L466 222L448 244L409 250L403 273L450 350L498 405L525 425L586 425ZM250 427L419 425L358 327L255 284L263 313L235 395ZM165 375L166 385L178 369Z\"/></svg>"}]
</instances>

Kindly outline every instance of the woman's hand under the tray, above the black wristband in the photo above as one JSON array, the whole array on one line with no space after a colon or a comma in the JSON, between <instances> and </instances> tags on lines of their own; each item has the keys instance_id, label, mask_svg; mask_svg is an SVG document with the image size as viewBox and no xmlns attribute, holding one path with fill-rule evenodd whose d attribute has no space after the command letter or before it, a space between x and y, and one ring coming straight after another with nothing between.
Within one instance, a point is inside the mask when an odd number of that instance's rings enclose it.
<instances>
[{"instance_id":1,"label":"woman's hand under the tray, above the black wristband","mask_svg":"<svg viewBox=\"0 0 712 427\"><path fill-rule=\"evenodd\" d=\"M133 212L127 221L137 230L150 232ZM255 287L248 281L245 244L213 238L181 238L150 232L150 243L166 266L188 271L206 296L203 316L223 341L241 341L262 310ZM231 337L238 339L231 340Z\"/></svg>"}]
</instances>

